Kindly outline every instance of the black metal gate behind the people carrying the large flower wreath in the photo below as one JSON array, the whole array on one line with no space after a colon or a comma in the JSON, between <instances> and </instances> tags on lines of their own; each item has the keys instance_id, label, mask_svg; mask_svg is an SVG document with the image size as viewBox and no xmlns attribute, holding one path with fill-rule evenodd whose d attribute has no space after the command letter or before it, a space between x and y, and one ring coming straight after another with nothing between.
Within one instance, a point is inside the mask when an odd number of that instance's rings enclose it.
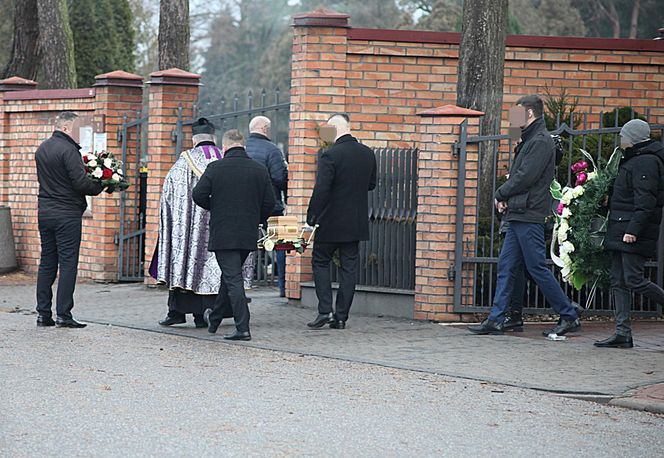
<instances>
[{"instance_id":1,"label":"black metal gate behind the people carrying the large flower wreath","mask_svg":"<svg viewBox=\"0 0 664 458\"><path fill-rule=\"evenodd\" d=\"M597 160L606 160L608 154L620 143L618 133L618 110L609 113L614 115L610 119L612 127L606 126L606 121L597 128L590 128L585 114L570 114L566 122L557 120L557 128L551 134L560 135L565 145L565 154L557 170L558 181L569 183L572 179L570 166L576 160L581 159L578 148L588 151ZM632 112L632 116L634 113ZM648 113L646 113L646 118ZM600 119L606 120L606 116L600 114ZM627 119L630 119L629 117ZM624 121L624 120L623 120ZM569 123L569 125L568 125ZM624 123L624 122L623 122ZM664 133L664 125L651 124L653 137L661 138ZM475 205L469 208L467 205L457 205L456 214L456 245L454 267L450 271L450 279L454 280L454 310L456 312L488 312L493 303L493 295L496 287L498 255L502 247L503 237L500 234L500 220L495 211L483 212L480 208L480 189L482 189L479 163L473 164L468 161L478 162L477 153L467 154L467 145L476 144L480 154L491 154L493 157L493 170L491 179L492 188L497 189L504 182L505 173L509 170L512 162L515 144L508 135L479 135L469 136L467 121L461 126L459 141L455 151L459 159L459 181L457 188L457 202L474 201ZM472 172L468 172L472 169ZM476 184L475 184L476 183ZM470 184L470 185L469 185ZM468 229L474 225L474 230ZM547 234L547 253L550 243L550 234ZM660 243L656 257L646 264L646 274L652 281L662 285L664 276L664 238L660 236ZM554 275L559 280L563 290L572 300L585 304L589 295L589 288L584 287L580 291L575 290L562 280L558 269L553 268ZM643 296L636 295L633 311L637 315L658 316L662 313L661 306L649 301ZM543 295L528 279L526 297L524 298L524 312L535 314L548 314L551 309L544 300ZM598 291L590 303L590 314L611 314L608 291Z\"/></svg>"}]
</instances>

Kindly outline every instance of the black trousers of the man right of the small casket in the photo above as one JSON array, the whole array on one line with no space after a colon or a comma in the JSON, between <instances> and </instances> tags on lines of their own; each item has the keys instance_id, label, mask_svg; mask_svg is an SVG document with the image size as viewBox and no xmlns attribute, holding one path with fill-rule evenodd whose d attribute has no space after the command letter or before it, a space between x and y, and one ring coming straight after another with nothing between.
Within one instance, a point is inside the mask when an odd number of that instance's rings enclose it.
<instances>
[{"instance_id":1,"label":"black trousers of the man right of the small casket","mask_svg":"<svg viewBox=\"0 0 664 458\"><path fill-rule=\"evenodd\" d=\"M332 310L332 281L330 280L330 261L332 254L338 248L339 260L339 291L337 291L337 302L335 317L337 320L348 320L350 306L355 295L355 284L357 283L358 270L358 246L359 242L324 243L315 242L312 255L312 266L314 270L314 283L316 284L316 296L318 297L318 313L331 313Z\"/></svg>"}]
</instances>

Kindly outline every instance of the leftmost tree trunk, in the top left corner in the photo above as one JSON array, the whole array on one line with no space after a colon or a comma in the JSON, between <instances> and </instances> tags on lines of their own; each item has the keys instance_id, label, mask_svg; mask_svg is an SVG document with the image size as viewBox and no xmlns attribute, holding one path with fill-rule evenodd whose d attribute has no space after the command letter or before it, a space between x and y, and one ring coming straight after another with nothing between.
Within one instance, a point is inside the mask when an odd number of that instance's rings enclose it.
<instances>
[{"instance_id":1,"label":"leftmost tree trunk, in the top left corner","mask_svg":"<svg viewBox=\"0 0 664 458\"><path fill-rule=\"evenodd\" d=\"M39 69L39 21L37 0L14 3L14 42L3 78L20 76L34 80Z\"/></svg>"}]
</instances>

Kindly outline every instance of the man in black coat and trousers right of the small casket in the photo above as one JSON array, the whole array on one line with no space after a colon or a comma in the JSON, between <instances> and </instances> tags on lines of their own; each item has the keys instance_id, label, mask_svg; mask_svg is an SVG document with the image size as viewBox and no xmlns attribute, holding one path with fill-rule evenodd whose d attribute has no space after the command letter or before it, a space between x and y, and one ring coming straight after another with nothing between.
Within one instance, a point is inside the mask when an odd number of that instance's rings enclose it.
<instances>
[{"instance_id":1,"label":"man in black coat and trousers right of the small casket","mask_svg":"<svg viewBox=\"0 0 664 458\"><path fill-rule=\"evenodd\" d=\"M307 210L307 224L318 224L313 250L313 271L318 316L307 324L329 324L344 329L355 294L360 240L369 239L367 193L376 187L376 156L351 135L348 115L327 121L336 130L335 142L318 159L318 174ZM339 250L339 291L332 311L330 261Z\"/></svg>"}]
</instances>

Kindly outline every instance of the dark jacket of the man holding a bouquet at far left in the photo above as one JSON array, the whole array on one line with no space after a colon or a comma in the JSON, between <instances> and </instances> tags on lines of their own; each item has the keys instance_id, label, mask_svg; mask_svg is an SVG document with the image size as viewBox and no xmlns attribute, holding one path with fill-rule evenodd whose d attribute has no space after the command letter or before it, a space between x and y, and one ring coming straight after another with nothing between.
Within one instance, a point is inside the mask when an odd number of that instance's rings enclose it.
<instances>
[{"instance_id":1,"label":"dark jacket of the man holding a bouquet at far left","mask_svg":"<svg viewBox=\"0 0 664 458\"><path fill-rule=\"evenodd\" d=\"M40 218L80 218L87 207L85 196L96 196L104 189L88 178L80 149L59 130L37 148Z\"/></svg>"}]
</instances>

